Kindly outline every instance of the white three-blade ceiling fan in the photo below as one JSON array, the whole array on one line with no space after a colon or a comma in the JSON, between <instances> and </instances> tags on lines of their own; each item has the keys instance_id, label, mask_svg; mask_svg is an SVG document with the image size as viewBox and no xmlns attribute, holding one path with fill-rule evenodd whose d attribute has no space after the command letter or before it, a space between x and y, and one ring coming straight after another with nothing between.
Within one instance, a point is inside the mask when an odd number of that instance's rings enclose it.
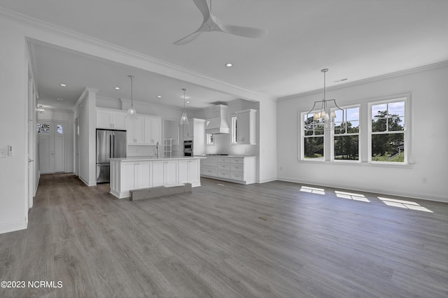
<instances>
[{"instance_id":1,"label":"white three-blade ceiling fan","mask_svg":"<svg viewBox=\"0 0 448 298\"><path fill-rule=\"evenodd\" d=\"M225 22L218 20L217 17L211 14L211 0L210 6L207 3L207 0L193 0L193 2L195 2L197 8L202 13L204 20L196 31L179 39L179 41L174 42L174 45L185 45L186 43L190 43L190 41L193 41L197 36L200 36L202 32L218 31L250 38L260 38L267 34L267 31L264 29L225 24Z\"/></svg>"}]
</instances>

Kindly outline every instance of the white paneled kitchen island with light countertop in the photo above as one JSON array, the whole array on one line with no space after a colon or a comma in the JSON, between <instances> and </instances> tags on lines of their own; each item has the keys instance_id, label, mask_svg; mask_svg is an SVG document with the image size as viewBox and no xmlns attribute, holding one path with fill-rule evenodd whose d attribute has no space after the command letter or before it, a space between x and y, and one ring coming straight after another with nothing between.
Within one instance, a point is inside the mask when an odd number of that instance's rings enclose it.
<instances>
[{"instance_id":1,"label":"white paneled kitchen island with light countertop","mask_svg":"<svg viewBox=\"0 0 448 298\"><path fill-rule=\"evenodd\" d=\"M111 194L130 197L130 190L191 183L201 186L200 159L204 157L125 157L111 159Z\"/></svg>"}]
</instances>

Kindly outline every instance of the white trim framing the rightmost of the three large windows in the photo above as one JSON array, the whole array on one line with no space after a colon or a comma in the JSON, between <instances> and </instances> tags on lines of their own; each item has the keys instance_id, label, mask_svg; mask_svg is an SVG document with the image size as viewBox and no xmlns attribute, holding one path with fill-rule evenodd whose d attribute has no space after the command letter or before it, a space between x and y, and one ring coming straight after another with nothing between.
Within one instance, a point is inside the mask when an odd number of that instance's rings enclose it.
<instances>
[{"instance_id":1,"label":"white trim framing the rightmost of the three large windows","mask_svg":"<svg viewBox=\"0 0 448 298\"><path fill-rule=\"evenodd\" d=\"M372 106L377 104L390 104L393 102L405 101L405 129L403 131L396 132L384 132L384 134L403 134L405 141L405 161L404 162L375 162L372 161ZM388 97L387 99L381 99L379 101L370 101L368 103L368 122L367 122L367 162L370 164L388 164L388 165L408 165L409 157L411 156L411 140L409 137L411 127L411 94L400 95L398 97Z\"/></svg>"}]
</instances>

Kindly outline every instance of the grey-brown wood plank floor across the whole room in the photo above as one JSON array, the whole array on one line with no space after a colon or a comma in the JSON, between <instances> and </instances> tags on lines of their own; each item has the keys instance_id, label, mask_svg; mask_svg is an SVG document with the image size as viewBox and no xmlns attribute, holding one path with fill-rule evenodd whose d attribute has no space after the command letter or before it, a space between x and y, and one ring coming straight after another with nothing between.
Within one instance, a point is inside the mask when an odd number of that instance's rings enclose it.
<instances>
[{"instance_id":1,"label":"grey-brown wood plank floor across the whole room","mask_svg":"<svg viewBox=\"0 0 448 298\"><path fill-rule=\"evenodd\" d=\"M301 187L202 178L128 201L41 176L28 229L0 234L0 281L62 288L0 297L448 297L448 204Z\"/></svg>"}]
</instances>

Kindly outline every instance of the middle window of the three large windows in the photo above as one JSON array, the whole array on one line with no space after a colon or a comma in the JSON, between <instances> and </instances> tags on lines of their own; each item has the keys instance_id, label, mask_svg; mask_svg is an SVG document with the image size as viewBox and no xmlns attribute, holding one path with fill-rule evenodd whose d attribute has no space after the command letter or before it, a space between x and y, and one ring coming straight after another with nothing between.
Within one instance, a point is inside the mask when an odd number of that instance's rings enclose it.
<instances>
[{"instance_id":1,"label":"middle window of the three large windows","mask_svg":"<svg viewBox=\"0 0 448 298\"><path fill-rule=\"evenodd\" d=\"M359 160L359 107L336 110L333 160Z\"/></svg>"}]
</instances>

